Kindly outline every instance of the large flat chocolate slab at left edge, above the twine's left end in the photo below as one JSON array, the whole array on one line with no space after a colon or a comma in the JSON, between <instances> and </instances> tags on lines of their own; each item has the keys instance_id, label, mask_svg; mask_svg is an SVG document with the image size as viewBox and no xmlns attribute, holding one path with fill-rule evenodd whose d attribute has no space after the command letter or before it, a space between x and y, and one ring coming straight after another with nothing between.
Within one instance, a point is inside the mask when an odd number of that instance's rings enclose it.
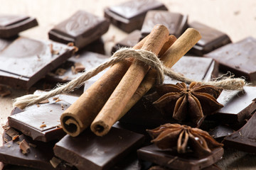
<instances>
[{"instance_id":1,"label":"large flat chocolate slab at left edge, above the twine's left end","mask_svg":"<svg viewBox=\"0 0 256 170\"><path fill-rule=\"evenodd\" d=\"M0 84L28 89L73 55L74 47L18 38L0 52Z\"/></svg>"}]
</instances>

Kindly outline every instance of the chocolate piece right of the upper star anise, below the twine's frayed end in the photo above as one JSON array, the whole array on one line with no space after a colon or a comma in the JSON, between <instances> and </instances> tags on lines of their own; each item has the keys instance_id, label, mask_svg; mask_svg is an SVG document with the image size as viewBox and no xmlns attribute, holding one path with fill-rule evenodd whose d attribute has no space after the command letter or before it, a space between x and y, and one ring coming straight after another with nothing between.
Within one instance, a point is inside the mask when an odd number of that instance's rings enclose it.
<instances>
[{"instance_id":1,"label":"chocolate piece right of the upper star anise, below the twine's frayed end","mask_svg":"<svg viewBox=\"0 0 256 170\"><path fill-rule=\"evenodd\" d=\"M217 101L223 104L223 108L212 117L221 123L242 123L256 110L256 87L245 86L243 91L223 90Z\"/></svg>"}]
</instances>

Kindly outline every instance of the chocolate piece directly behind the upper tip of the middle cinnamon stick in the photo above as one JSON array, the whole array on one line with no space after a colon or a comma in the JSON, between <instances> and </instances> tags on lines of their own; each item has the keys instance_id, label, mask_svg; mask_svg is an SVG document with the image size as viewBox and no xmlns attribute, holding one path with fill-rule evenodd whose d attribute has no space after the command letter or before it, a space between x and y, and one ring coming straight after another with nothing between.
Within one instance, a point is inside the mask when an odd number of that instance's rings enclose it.
<instances>
[{"instance_id":1,"label":"chocolate piece directly behind the upper tip of the middle cinnamon stick","mask_svg":"<svg viewBox=\"0 0 256 170\"><path fill-rule=\"evenodd\" d=\"M142 25L142 38L149 35L156 24L163 24L170 35L178 38L188 28L188 16L169 11L148 11Z\"/></svg>"}]
</instances>

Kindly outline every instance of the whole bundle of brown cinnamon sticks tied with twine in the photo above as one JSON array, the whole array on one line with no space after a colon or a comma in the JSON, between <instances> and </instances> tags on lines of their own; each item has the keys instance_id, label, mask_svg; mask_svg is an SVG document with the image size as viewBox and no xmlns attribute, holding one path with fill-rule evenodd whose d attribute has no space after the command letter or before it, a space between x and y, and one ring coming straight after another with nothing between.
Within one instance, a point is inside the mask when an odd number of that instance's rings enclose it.
<instances>
[{"instance_id":1,"label":"whole bundle of brown cinnamon sticks tied with twine","mask_svg":"<svg viewBox=\"0 0 256 170\"><path fill-rule=\"evenodd\" d=\"M156 25L133 49L153 52L166 67L172 67L200 38L198 31L188 28L176 40L165 26ZM156 79L155 69L132 57L114 64L61 115L63 130L75 137L90 126L96 135L106 135Z\"/></svg>"}]
</instances>

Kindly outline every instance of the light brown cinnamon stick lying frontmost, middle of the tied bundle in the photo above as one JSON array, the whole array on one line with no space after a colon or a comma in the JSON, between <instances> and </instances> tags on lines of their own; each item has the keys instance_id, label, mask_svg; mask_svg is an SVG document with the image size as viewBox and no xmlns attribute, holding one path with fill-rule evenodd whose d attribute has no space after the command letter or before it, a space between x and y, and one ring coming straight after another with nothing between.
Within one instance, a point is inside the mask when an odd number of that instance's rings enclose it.
<instances>
[{"instance_id":1,"label":"light brown cinnamon stick lying frontmost, middle of the tied bundle","mask_svg":"<svg viewBox=\"0 0 256 170\"><path fill-rule=\"evenodd\" d=\"M149 37L144 42L142 50L148 50L158 55L164 43L169 40L169 30L163 25L154 26ZM132 98L139 84L144 79L149 66L143 62L134 60L127 70L124 77L114 89L112 95L103 106L100 113L93 120L91 125L92 132L96 135L105 135L111 128L112 122L119 118L125 106Z\"/></svg>"}]
</instances>

